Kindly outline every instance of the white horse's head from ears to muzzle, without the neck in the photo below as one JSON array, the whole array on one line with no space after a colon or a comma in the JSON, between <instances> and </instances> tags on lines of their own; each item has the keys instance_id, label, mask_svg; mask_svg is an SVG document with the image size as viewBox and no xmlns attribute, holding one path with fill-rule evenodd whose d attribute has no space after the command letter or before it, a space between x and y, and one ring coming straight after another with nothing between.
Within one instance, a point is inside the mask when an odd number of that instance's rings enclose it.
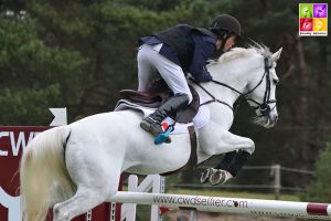
<instances>
[{"instance_id":1,"label":"white horse's head from ears to muzzle, without the neck","mask_svg":"<svg viewBox=\"0 0 331 221\"><path fill-rule=\"evenodd\" d=\"M269 128L278 119L276 86L279 80L275 69L282 49L274 54L261 45L254 48L254 50L259 54L257 56L259 65L252 73L248 73L250 77L248 77L244 96L257 114L254 123Z\"/></svg>"}]
</instances>

